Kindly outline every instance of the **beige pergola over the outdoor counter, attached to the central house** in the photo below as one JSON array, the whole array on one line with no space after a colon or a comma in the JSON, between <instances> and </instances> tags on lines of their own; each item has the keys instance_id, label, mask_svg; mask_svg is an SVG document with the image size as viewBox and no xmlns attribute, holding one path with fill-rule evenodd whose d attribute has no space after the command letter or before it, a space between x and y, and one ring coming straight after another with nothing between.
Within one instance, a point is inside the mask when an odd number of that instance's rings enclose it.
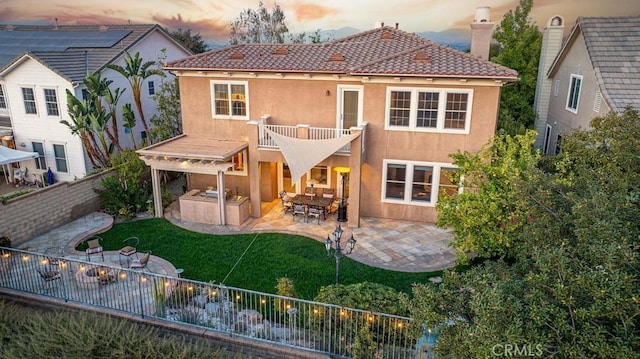
<instances>
[{"instance_id":1,"label":"beige pergola over the outdoor counter, attached to the central house","mask_svg":"<svg viewBox=\"0 0 640 359\"><path fill-rule=\"evenodd\" d=\"M153 202L156 217L163 216L160 171L200 173L218 176L218 188L225 188L224 173L233 168L231 158L248 147L244 141L202 139L180 135L137 150L140 158L151 167ZM225 196L218 196L221 224L225 224Z\"/></svg>"}]
</instances>

